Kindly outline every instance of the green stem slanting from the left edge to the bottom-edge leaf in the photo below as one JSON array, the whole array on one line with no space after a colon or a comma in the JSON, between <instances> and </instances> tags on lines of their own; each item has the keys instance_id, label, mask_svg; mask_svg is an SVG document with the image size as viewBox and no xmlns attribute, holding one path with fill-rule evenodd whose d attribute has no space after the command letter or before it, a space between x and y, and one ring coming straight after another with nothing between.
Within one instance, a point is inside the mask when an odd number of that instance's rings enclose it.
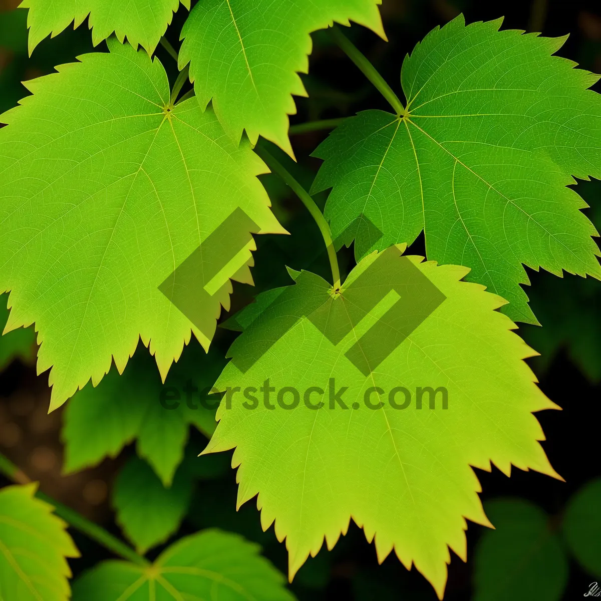
<instances>
[{"instance_id":1,"label":"green stem slanting from the left edge to the bottom-edge leaf","mask_svg":"<svg viewBox=\"0 0 601 601\"><path fill-rule=\"evenodd\" d=\"M10 459L2 455L2 453L0 453L0 472L16 484L30 484L32 482L31 478L29 478L25 472L17 468L17 466L14 465ZM52 505L56 515L64 519L70 526L79 530L82 534L87 535L92 540L95 540L97 543L100 543L100 545L109 551L112 551L115 555L138 564L138 566L150 566L150 562L141 555L138 555L130 546L121 542L101 526L94 522L90 522L90 520L80 515L77 511L51 499L49 496L44 495L44 493L39 491L35 493L35 496Z\"/></svg>"}]
</instances>

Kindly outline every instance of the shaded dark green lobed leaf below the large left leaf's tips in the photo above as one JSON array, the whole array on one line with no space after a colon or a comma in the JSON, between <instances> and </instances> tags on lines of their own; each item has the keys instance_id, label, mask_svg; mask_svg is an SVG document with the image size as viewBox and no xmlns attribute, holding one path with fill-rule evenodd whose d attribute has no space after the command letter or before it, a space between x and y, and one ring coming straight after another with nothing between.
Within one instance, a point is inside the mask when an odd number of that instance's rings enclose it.
<instances>
[{"instance_id":1,"label":"shaded dark green lobed leaf below the large left leaf's tips","mask_svg":"<svg viewBox=\"0 0 601 601\"><path fill-rule=\"evenodd\" d=\"M147 350L139 348L123 376L113 368L96 388L88 384L67 403L61 435L64 471L116 457L136 440L138 455L169 486L183 459L190 425L207 438L215 430L212 407L217 401L206 395L224 364L218 352L205 355L198 343L191 343L163 385Z\"/></svg>"}]
</instances>

